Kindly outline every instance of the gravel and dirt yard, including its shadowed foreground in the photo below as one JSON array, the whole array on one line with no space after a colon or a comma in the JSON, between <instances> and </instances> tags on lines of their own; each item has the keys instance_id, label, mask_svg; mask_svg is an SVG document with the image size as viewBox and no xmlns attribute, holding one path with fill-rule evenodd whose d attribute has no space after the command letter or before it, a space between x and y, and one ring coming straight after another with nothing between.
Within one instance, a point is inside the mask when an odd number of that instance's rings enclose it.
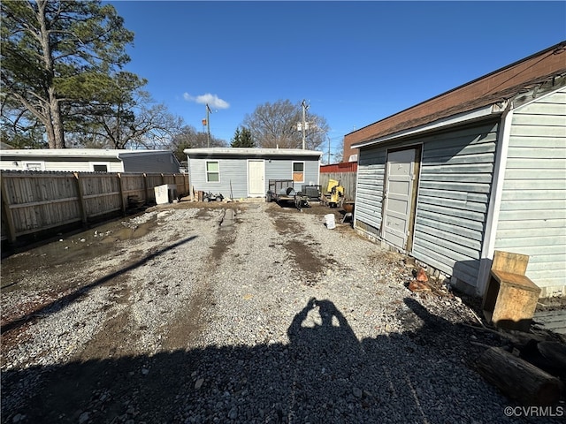
<instances>
[{"instance_id":1,"label":"gravel and dirt yard, including its shadowed foreground","mask_svg":"<svg viewBox=\"0 0 566 424\"><path fill-rule=\"evenodd\" d=\"M4 259L2 422L561 422L508 417L472 304L328 213L180 202Z\"/></svg>"}]
</instances>

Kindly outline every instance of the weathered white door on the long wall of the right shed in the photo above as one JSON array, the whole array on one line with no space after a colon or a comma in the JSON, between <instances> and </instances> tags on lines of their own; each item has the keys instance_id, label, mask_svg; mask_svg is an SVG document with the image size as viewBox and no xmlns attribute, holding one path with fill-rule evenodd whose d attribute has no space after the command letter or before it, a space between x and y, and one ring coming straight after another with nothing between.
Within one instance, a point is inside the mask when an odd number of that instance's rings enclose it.
<instances>
[{"instance_id":1,"label":"weathered white door on the long wall of the right shed","mask_svg":"<svg viewBox=\"0 0 566 424\"><path fill-rule=\"evenodd\" d=\"M409 237L416 153L416 149L410 148L387 155L381 237L402 250L406 250Z\"/></svg>"}]
</instances>

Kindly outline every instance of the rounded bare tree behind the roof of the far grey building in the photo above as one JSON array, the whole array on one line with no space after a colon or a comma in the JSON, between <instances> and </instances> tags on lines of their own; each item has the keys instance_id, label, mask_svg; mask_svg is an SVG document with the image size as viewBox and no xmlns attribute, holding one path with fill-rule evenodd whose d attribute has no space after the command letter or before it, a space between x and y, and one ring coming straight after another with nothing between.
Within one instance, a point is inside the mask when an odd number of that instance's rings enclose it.
<instances>
[{"instance_id":1,"label":"rounded bare tree behind the roof of the far grey building","mask_svg":"<svg viewBox=\"0 0 566 424\"><path fill-rule=\"evenodd\" d=\"M306 148L317 149L324 144L328 124L324 117L309 113L305 133ZM289 100L266 102L256 107L243 121L252 139L260 148L302 148L302 105ZM302 126L302 125L301 125Z\"/></svg>"}]
</instances>

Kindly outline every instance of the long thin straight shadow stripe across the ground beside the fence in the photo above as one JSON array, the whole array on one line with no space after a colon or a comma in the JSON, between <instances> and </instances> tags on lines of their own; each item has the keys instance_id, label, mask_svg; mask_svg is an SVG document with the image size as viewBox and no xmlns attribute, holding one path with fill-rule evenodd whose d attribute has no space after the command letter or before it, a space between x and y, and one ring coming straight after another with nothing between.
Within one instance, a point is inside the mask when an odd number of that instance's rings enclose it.
<instances>
[{"instance_id":1,"label":"long thin straight shadow stripe across the ground beside the fence","mask_svg":"<svg viewBox=\"0 0 566 424\"><path fill-rule=\"evenodd\" d=\"M108 274L107 276L103 276L102 278L96 279L95 281L93 281L90 284L80 286L80 288L78 288L74 292L71 292L71 293L63 296L60 299L56 299L56 300L53 300L52 302L49 302L47 304L43 304L40 307L35 308L30 313L25 314L24 316L21 316L17 319L14 319L10 322L6 322L2 326L2 329L0 329L0 334L4 334L4 332L9 331L11 329L17 329L20 326L26 324L27 322L33 321L34 319L37 319L37 318L41 318L42 316L49 315L49 314L55 314L58 311L60 311L61 309L65 308L67 305L71 304L73 301L79 299L80 296L87 294L92 289L96 288L97 286L102 285L104 283L108 283L113 278L116 278L117 276L121 276L122 274L125 274L126 272L131 271L132 269L136 269L136 268L142 266L147 261L151 261L152 259L155 259L160 254L164 254L165 252L172 250L175 247L184 245L185 243L187 243L187 242L189 242L193 239L196 239L196 237L197 236L191 236L191 237L187 237L186 239L180 239L178 242L173 243L172 245L166 246L163 249L159 249L159 250L157 250L157 252L153 252L151 254L148 254L147 256L145 256L144 258L142 258L139 261L134 261L133 263L127 265L124 268L118 269L117 271L114 271L111 274Z\"/></svg>"}]
</instances>

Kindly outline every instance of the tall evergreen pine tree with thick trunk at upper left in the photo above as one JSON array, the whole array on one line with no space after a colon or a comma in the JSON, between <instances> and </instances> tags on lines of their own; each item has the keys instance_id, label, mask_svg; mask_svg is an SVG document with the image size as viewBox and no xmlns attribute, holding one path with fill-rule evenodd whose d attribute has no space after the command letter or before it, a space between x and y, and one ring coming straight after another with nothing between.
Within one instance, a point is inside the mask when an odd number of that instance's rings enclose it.
<instances>
[{"instance_id":1,"label":"tall evergreen pine tree with thick trunk at upper left","mask_svg":"<svg viewBox=\"0 0 566 424\"><path fill-rule=\"evenodd\" d=\"M65 148L65 121L95 108L113 72L129 62L134 34L99 0L4 0L1 4L2 119L39 122L50 148ZM72 115L74 117L72 118ZM21 124L24 123L24 124Z\"/></svg>"}]
</instances>

